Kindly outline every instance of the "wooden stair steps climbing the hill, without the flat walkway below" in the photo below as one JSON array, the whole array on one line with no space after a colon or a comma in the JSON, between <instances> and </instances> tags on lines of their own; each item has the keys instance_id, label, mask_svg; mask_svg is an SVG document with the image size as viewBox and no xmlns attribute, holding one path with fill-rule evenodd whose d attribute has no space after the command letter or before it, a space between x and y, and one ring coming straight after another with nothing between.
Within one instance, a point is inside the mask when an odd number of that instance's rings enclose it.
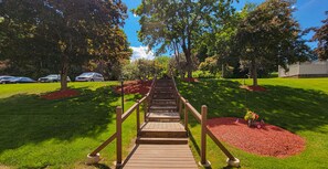
<instances>
[{"instance_id":1,"label":"wooden stair steps climbing the hill, without the flat walkway below","mask_svg":"<svg viewBox=\"0 0 328 169\"><path fill-rule=\"evenodd\" d=\"M188 144L171 80L158 80L137 144Z\"/></svg>"}]
</instances>

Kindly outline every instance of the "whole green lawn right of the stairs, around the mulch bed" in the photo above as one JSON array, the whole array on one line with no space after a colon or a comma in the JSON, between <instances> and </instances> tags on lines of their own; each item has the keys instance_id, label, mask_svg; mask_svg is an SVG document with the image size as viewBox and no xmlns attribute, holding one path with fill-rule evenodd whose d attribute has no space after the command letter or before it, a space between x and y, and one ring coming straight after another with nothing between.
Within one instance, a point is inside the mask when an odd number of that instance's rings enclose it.
<instances>
[{"instance_id":1,"label":"whole green lawn right of the stairs, around the mulch bed","mask_svg":"<svg viewBox=\"0 0 328 169\"><path fill-rule=\"evenodd\" d=\"M328 78L263 78L266 92L247 92L241 84L251 80L202 80L179 82L179 91L200 110L208 105L208 118L240 117L246 108L260 114L266 123L279 126L306 139L306 149L288 158L261 157L223 142L241 160L242 168L327 168L328 156ZM193 154L200 146L200 125L190 117ZM212 168L224 168L226 157L208 137L208 157Z\"/></svg>"}]
</instances>

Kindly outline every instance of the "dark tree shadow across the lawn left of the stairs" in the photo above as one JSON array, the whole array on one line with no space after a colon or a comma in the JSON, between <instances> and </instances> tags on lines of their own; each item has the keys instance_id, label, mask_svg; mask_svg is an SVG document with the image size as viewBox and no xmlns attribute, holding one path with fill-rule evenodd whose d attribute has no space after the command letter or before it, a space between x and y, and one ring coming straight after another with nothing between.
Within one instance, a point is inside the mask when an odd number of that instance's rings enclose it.
<instances>
[{"instance_id":1,"label":"dark tree shadow across the lawn left of the stairs","mask_svg":"<svg viewBox=\"0 0 328 169\"><path fill-rule=\"evenodd\" d=\"M73 140L103 133L113 123L119 95L110 86L77 88L81 95L46 101L38 95L0 99L0 152L55 138ZM118 104L118 103L117 103Z\"/></svg>"}]
</instances>

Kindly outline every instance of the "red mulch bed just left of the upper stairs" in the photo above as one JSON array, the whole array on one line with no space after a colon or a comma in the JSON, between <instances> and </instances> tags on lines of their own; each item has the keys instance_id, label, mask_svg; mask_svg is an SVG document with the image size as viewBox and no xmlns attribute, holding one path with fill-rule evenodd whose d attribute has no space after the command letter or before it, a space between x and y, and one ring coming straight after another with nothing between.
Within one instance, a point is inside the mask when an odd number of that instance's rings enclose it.
<instances>
[{"instance_id":1,"label":"red mulch bed just left of the upper stairs","mask_svg":"<svg viewBox=\"0 0 328 169\"><path fill-rule=\"evenodd\" d=\"M124 83L124 94L139 93L145 95L149 92L152 81L127 81ZM120 94L120 85L115 87L115 92Z\"/></svg>"}]
</instances>

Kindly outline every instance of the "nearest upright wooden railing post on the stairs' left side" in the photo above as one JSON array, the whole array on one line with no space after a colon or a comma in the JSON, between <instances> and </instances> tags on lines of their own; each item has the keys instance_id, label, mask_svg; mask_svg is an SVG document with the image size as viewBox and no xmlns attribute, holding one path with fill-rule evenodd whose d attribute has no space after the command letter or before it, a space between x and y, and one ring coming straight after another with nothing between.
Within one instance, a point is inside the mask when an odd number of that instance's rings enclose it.
<instances>
[{"instance_id":1,"label":"nearest upright wooden railing post on the stairs' left side","mask_svg":"<svg viewBox=\"0 0 328 169\"><path fill-rule=\"evenodd\" d=\"M116 107L116 168L121 167L121 107Z\"/></svg>"}]
</instances>

